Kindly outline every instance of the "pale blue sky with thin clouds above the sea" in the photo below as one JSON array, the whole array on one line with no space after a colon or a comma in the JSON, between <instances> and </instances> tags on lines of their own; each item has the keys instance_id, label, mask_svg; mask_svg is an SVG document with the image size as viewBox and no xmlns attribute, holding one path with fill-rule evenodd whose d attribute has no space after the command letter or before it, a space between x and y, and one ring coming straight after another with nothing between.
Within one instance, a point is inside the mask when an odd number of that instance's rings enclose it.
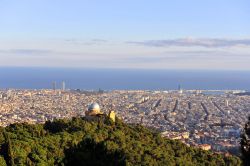
<instances>
[{"instance_id":1,"label":"pale blue sky with thin clouds above the sea","mask_svg":"<svg viewBox=\"0 0 250 166\"><path fill-rule=\"evenodd\" d=\"M0 67L250 70L249 0L0 0Z\"/></svg>"}]
</instances>

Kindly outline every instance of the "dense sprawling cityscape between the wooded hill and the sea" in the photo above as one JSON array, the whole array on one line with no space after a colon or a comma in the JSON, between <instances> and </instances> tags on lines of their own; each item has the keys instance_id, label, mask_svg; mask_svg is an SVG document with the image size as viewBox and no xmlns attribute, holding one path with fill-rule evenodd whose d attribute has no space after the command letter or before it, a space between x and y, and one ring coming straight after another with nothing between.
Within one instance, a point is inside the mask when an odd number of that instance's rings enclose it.
<instances>
[{"instance_id":1,"label":"dense sprawling cityscape between the wooded hill and the sea","mask_svg":"<svg viewBox=\"0 0 250 166\"><path fill-rule=\"evenodd\" d=\"M97 102L104 113L129 124L156 129L163 137L216 152L239 153L240 134L250 111L250 96L241 91L82 91L62 89L1 90L0 125L44 123L85 116Z\"/></svg>"}]
</instances>

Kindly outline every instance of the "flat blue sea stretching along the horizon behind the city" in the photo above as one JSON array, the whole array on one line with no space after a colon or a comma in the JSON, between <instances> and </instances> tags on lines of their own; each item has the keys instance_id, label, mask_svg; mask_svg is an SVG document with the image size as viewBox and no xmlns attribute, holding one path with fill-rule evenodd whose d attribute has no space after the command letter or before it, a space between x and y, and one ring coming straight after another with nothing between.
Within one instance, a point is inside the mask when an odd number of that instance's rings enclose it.
<instances>
[{"instance_id":1,"label":"flat blue sea stretching along the horizon behind the city","mask_svg":"<svg viewBox=\"0 0 250 166\"><path fill-rule=\"evenodd\" d=\"M0 67L0 89L250 90L250 71Z\"/></svg>"}]
</instances>

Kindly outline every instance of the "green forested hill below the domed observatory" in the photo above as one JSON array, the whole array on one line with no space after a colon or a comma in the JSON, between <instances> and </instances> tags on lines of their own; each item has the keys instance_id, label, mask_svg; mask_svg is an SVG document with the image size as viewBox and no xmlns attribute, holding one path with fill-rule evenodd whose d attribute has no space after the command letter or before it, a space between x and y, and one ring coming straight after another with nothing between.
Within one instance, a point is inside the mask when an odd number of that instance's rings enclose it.
<instances>
[{"instance_id":1,"label":"green forested hill below the domed observatory","mask_svg":"<svg viewBox=\"0 0 250 166\"><path fill-rule=\"evenodd\" d=\"M108 118L12 124L0 131L0 165L241 165Z\"/></svg>"}]
</instances>

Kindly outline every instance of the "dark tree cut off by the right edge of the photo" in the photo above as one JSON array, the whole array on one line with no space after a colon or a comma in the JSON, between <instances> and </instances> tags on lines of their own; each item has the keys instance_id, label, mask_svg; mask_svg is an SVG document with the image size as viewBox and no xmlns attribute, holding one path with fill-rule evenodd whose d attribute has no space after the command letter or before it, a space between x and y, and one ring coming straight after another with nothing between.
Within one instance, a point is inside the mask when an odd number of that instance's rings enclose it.
<instances>
[{"instance_id":1,"label":"dark tree cut off by the right edge of the photo","mask_svg":"<svg viewBox=\"0 0 250 166\"><path fill-rule=\"evenodd\" d=\"M245 124L244 133L241 135L241 151L245 165L250 165L250 117Z\"/></svg>"}]
</instances>

